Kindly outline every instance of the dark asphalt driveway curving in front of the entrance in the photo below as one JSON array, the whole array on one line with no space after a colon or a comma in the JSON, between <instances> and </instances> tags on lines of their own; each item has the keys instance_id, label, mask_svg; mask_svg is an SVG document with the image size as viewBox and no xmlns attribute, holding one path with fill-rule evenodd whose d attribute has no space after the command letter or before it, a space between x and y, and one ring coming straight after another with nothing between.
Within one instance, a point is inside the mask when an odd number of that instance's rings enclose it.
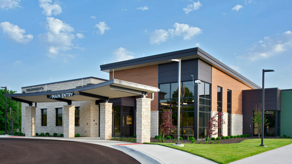
<instances>
[{"instance_id":1,"label":"dark asphalt driveway curving in front of the entrance","mask_svg":"<svg viewBox=\"0 0 292 164\"><path fill-rule=\"evenodd\" d=\"M139 163L106 146L50 139L0 138L0 163Z\"/></svg>"}]
</instances>

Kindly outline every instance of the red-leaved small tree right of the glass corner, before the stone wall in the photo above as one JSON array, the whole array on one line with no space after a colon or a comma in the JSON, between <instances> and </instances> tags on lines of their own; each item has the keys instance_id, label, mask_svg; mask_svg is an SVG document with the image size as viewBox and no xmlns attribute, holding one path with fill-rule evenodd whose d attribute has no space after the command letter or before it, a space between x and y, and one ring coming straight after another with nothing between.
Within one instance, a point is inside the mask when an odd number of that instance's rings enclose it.
<instances>
[{"instance_id":1,"label":"red-leaved small tree right of the glass corner, before the stone wall","mask_svg":"<svg viewBox=\"0 0 292 164\"><path fill-rule=\"evenodd\" d=\"M225 121L222 119L223 112L217 112L210 120L208 121L208 129L207 129L207 135L208 138L210 138L210 135L216 135L222 136L222 134L218 133L218 129L221 128Z\"/></svg>"}]
</instances>

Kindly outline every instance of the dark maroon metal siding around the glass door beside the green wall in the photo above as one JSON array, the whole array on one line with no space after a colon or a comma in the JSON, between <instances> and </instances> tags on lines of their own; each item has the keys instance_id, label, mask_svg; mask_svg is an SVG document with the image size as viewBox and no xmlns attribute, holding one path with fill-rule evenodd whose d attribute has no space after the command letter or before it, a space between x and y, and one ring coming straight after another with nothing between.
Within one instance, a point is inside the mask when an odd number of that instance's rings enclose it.
<instances>
[{"instance_id":1,"label":"dark maroon metal siding around the glass door beside the green wall","mask_svg":"<svg viewBox=\"0 0 292 164\"><path fill-rule=\"evenodd\" d=\"M265 89L265 110L277 110L278 88ZM281 101L281 100L280 100ZM262 102L262 89L251 89L242 91L242 115L243 115L243 134L251 135L253 127L253 111L256 104Z\"/></svg>"}]
</instances>

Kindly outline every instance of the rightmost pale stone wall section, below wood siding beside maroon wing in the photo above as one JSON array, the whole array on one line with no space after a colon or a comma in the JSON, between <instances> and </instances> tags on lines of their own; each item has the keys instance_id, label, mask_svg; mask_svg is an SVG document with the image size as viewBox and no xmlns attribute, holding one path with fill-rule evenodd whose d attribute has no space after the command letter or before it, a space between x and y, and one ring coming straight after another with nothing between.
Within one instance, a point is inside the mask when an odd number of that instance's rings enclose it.
<instances>
[{"instance_id":1,"label":"rightmost pale stone wall section, below wood siding beside maroon wing","mask_svg":"<svg viewBox=\"0 0 292 164\"><path fill-rule=\"evenodd\" d=\"M230 118L230 135L241 135L242 134L242 115L231 114Z\"/></svg>"}]
</instances>

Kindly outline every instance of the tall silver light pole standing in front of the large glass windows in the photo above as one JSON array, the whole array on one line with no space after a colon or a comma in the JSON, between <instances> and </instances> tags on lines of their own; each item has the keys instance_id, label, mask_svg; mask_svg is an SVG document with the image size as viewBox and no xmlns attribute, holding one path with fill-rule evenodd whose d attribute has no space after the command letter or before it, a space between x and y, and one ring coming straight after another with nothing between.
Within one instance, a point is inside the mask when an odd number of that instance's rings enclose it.
<instances>
[{"instance_id":1,"label":"tall silver light pole standing in front of the large glass windows","mask_svg":"<svg viewBox=\"0 0 292 164\"><path fill-rule=\"evenodd\" d=\"M181 59L171 59L169 60L170 62L178 62L178 138L174 146L184 146L183 144L180 143L180 65L181 65Z\"/></svg>"}]
</instances>

